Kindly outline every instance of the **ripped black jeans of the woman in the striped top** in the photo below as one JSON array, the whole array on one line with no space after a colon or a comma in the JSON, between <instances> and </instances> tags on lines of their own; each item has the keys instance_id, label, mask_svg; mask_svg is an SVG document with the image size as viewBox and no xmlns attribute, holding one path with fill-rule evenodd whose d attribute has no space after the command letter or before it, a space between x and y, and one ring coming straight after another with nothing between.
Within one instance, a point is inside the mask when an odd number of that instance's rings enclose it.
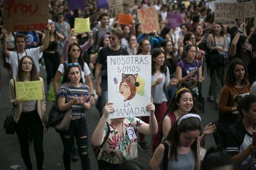
<instances>
[{"instance_id":1,"label":"ripped black jeans of the woman in the striped top","mask_svg":"<svg viewBox=\"0 0 256 170\"><path fill-rule=\"evenodd\" d=\"M77 140L77 149L82 163L82 169L90 169L88 155L88 131L85 118L72 120L67 131L58 131L64 147L63 161L66 170L70 169L72 145L74 137Z\"/></svg>"}]
</instances>

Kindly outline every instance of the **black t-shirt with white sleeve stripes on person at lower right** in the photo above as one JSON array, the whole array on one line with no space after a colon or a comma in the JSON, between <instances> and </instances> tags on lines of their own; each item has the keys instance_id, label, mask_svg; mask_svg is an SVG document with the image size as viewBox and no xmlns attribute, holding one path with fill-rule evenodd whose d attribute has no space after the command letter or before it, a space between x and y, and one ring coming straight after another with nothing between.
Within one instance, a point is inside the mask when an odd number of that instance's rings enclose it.
<instances>
[{"instance_id":1,"label":"black t-shirt with white sleeve stripes on person at lower right","mask_svg":"<svg viewBox=\"0 0 256 170\"><path fill-rule=\"evenodd\" d=\"M231 126L227 132L226 152L234 156L243 152L250 144L252 144L252 135L246 131L241 119ZM248 156L239 166L247 166L250 161L251 156Z\"/></svg>"}]
</instances>

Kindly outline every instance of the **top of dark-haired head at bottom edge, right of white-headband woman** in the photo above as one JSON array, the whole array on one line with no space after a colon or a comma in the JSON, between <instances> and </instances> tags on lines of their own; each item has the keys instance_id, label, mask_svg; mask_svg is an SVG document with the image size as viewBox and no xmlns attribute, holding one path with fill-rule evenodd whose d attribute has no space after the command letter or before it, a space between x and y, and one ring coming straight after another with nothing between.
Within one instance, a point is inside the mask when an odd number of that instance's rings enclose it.
<instances>
[{"instance_id":1,"label":"top of dark-haired head at bottom edge, right of white-headband woman","mask_svg":"<svg viewBox=\"0 0 256 170\"><path fill-rule=\"evenodd\" d=\"M234 170L234 163L225 152L221 152L217 147L208 148L201 163L201 170Z\"/></svg>"}]
</instances>

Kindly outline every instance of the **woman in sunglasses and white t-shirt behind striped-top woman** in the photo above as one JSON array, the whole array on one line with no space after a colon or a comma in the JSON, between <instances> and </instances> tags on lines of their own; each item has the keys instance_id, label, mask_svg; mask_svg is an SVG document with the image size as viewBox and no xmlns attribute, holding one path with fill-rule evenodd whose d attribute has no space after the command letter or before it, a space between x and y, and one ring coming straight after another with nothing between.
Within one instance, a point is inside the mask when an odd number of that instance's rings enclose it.
<instances>
[{"instance_id":1,"label":"woman in sunglasses and white t-shirt behind striped-top woman","mask_svg":"<svg viewBox=\"0 0 256 170\"><path fill-rule=\"evenodd\" d=\"M83 83L88 84L90 87L90 91L93 92L93 83L92 83L92 78L90 76L91 71L90 68L88 67L87 63L83 61L82 58L82 49L79 46L79 44L71 44L69 46L68 50L68 56L67 56L67 63L78 63L80 68L81 68L81 80ZM53 85L54 85L54 91L57 94L58 89L59 89L59 84L58 81L63 76L63 81L62 83L67 82L67 76L64 75L64 70L65 67L67 66L67 63L62 63L59 65L58 71L56 72L56 75L53 79ZM90 103L93 105L94 103L94 95L92 94L90 97Z\"/></svg>"}]
</instances>

